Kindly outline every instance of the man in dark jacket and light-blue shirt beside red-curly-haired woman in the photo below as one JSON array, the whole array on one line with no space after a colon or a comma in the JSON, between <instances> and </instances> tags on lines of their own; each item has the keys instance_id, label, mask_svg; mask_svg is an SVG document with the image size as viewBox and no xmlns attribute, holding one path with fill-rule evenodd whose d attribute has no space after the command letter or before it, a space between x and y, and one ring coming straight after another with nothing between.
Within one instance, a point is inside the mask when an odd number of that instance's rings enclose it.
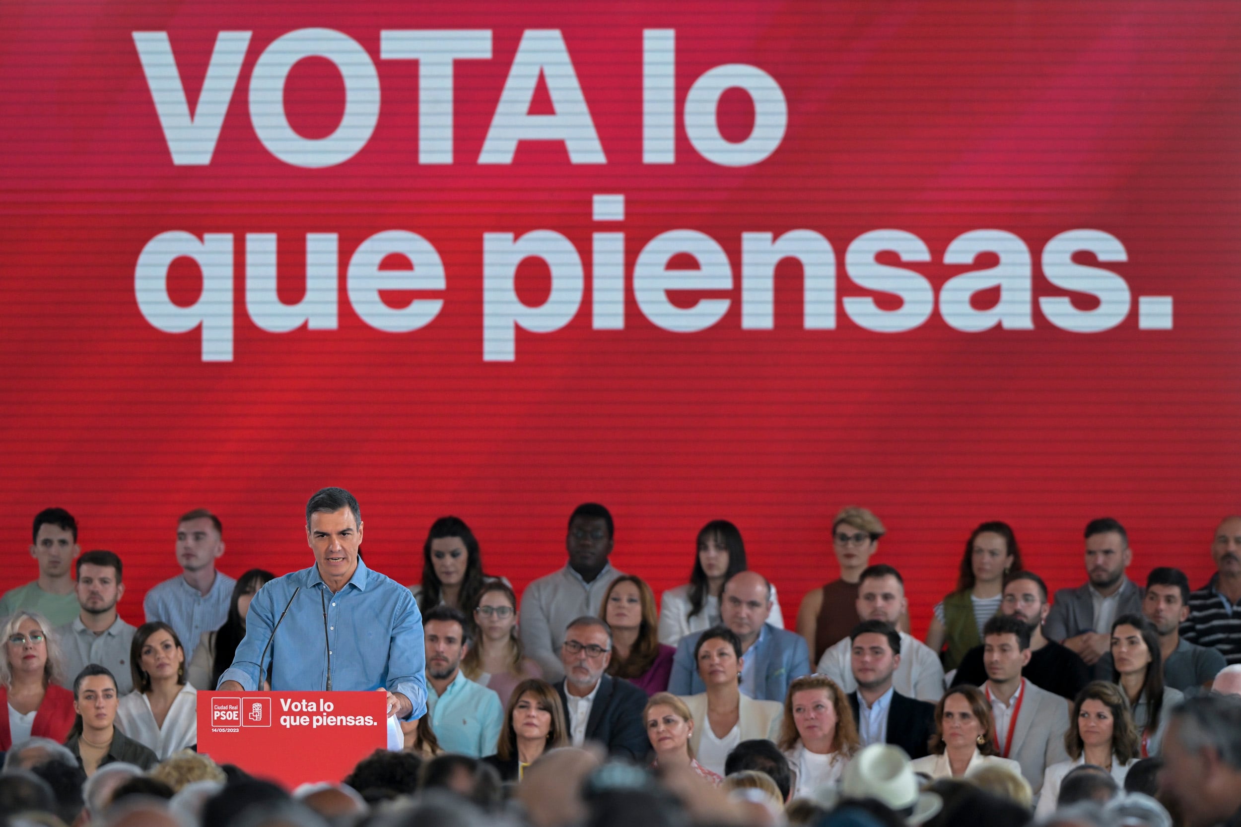
<instances>
[{"instance_id":1,"label":"man in dark jacket and light-blue shirt beside red-curly-haired woman","mask_svg":"<svg viewBox=\"0 0 1241 827\"><path fill-rule=\"evenodd\" d=\"M849 705L862 746L885 743L900 746L910 758L927 755L934 734L934 704L906 698L892 688L892 673L901 662L900 632L882 620L866 620L854 626L849 637L858 682L858 691L849 694Z\"/></svg>"}]
</instances>

